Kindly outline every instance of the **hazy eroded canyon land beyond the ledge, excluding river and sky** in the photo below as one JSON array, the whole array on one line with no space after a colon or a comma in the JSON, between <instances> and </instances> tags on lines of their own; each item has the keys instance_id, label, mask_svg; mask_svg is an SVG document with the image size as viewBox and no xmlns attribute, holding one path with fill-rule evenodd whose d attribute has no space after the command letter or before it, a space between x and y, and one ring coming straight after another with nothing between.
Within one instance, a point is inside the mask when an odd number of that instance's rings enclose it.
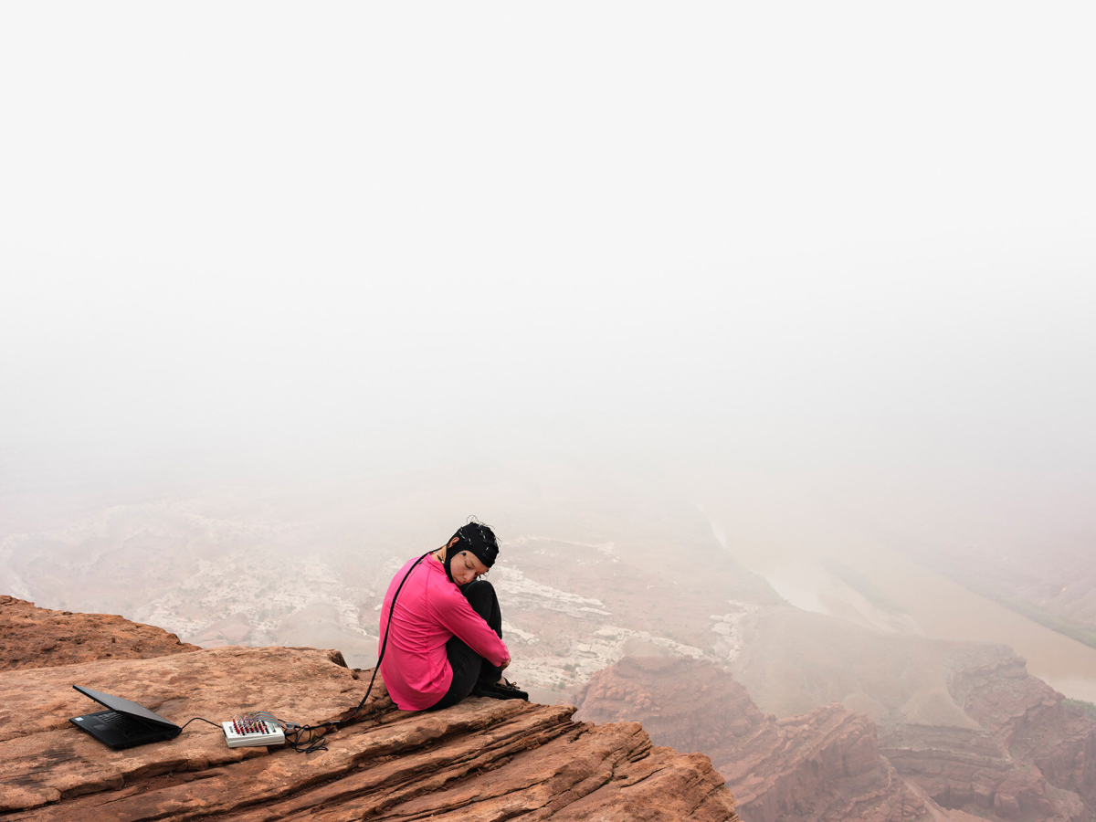
<instances>
[{"instance_id":1,"label":"hazy eroded canyon land beyond the ledge, excluding river and sky","mask_svg":"<svg viewBox=\"0 0 1096 822\"><path fill-rule=\"evenodd\" d=\"M115 506L64 532L7 534L0 581L209 649L336 648L367 667L391 574L452 530L444 512L487 500L522 686L710 756L746 822L1093 818L1092 720L1007 648L932 639L909 617L880 627L792 607L688 500L567 480L372 507Z\"/></svg>"}]
</instances>

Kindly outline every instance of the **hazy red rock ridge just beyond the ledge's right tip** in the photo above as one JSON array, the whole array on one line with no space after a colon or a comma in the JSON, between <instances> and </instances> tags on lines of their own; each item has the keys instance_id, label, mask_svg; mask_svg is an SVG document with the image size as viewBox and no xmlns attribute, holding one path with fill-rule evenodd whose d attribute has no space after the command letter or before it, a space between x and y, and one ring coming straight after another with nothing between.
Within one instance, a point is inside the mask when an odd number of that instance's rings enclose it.
<instances>
[{"instance_id":1,"label":"hazy red rock ridge just beyond the ledge's right tip","mask_svg":"<svg viewBox=\"0 0 1096 822\"><path fill-rule=\"evenodd\" d=\"M591 680L580 716L638 720L659 743L704 751L746 822L927 817L925 803L879 755L870 719L832 705L778 720L707 662L625 658Z\"/></svg>"}]
</instances>

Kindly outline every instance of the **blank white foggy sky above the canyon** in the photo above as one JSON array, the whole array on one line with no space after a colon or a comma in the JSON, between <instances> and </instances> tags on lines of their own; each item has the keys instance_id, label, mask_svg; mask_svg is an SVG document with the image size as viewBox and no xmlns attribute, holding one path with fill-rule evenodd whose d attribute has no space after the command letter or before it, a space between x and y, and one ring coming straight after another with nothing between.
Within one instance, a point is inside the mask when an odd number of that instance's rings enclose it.
<instances>
[{"instance_id":1,"label":"blank white foggy sky above the canyon","mask_svg":"<svg viewBox=\"0 0 1096 822\"><path fill-rule=\"evenodd\" d=\"M1094 42L1086 2L7 2L7 516L552 457L1091 534Z\"/></svg>"}]
</instances>

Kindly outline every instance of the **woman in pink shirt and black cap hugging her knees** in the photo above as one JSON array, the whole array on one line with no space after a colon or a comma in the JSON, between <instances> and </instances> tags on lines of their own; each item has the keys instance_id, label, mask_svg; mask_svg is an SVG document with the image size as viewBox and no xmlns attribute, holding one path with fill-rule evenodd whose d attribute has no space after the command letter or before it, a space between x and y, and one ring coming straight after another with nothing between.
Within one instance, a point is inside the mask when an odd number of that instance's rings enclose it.
<instances>
[{"instance_id":1,"label":"woman in pink shirt and black cap hugging her knees","mask_svg":"<svg viewBox=\"0 0 1096 822\"><path fill-rule=\"evenodd\" d=\"M479 579L498 556L494 533L471 522L392 578L380 609L380 675L401 710L448 708L469 694L528 699L502 675L502 612Z\"/></svg>"}]
</instances>

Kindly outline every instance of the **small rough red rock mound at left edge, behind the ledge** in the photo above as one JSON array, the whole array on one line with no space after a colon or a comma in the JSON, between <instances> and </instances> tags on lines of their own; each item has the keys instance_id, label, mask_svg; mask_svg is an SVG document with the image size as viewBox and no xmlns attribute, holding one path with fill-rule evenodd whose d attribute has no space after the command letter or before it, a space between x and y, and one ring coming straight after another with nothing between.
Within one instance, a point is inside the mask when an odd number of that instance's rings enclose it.
<instances>
[{"instance_id":1,"label":"small rough red rock mound at left edge, behind the ledge","mask_svg":"<svg viewBox=\"0 0 1096 822\"><path fill-rule=\"evenodd\" d=\"M91 660L142 660L196 651L174 633L113 614L39 608L0 595L0 671Z\"/></svg>"}]
</instances>

